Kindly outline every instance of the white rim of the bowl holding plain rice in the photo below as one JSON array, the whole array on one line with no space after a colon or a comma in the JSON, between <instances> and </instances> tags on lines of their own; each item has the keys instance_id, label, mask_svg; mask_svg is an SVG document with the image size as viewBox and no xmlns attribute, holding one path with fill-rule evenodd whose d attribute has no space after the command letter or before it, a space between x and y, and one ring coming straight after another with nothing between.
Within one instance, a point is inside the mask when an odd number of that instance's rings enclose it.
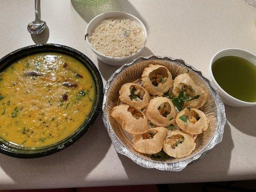
<instances>
[{"instance_id":1,"label":"white rim of the bowl holding plain rice","mask_svg":"<svg viewBox=\"0 0 256 192\"><path fill-rule=\"evenodd\" d=\"M126 16L128 15L128 16L132 17L135 21L137 21L137 22L141 25L141 27L142 27L142 29L143 29L143 31L144 31L144 34L145 34L145 42L144 42L143 46L142 46L140 49L138 49L135 53L133 53L132 55L125 56L125 57L110 57L110 56L104 55L104 54L98 52L95 48L93 48L92 45L91 45L91 43L90 43L90 41L89 41L89 39L87 38L87 37L88 37L88 28L89 28L89 26L90 26L91 24L93 24L93 23L95 22L95 20L98 19L99 17L102 17L101 21L103 21L103 20L106 19L106 18L109 18L110 16L108 16L108 17L104 17L104 16L107 15L107 14L110 14L110 13L119 13L119 14L122 14L124 17L125 17L125 15L126 15ZM92 51L93 51L94 53L98 54L99 56L101 56L101 57L103 57L103 58L105 58L105 59L109 59L109 60L116 60L116 61L119 60L119 61L122 61L122 60L125 60L125 59L132 58L132 57L134 57L135 55L137 55L139 52L142 51L142 49L145 47L146 41L147 41L147 30L146 30L146 26L142 23L142 21L139 20L137 17L135 17L134 15L132 15L132 14L130 14L130 13L127 13L127 12L118 12L118 11L104 12L104 13L101 13L101 14L97 15L96 17L94 17L94 18L87 24L87 27L86 27L86 29L85 29L85 41L86 41L86 43L88 44L89 48L91 48Z\"/></svg>"}]
</instances>

